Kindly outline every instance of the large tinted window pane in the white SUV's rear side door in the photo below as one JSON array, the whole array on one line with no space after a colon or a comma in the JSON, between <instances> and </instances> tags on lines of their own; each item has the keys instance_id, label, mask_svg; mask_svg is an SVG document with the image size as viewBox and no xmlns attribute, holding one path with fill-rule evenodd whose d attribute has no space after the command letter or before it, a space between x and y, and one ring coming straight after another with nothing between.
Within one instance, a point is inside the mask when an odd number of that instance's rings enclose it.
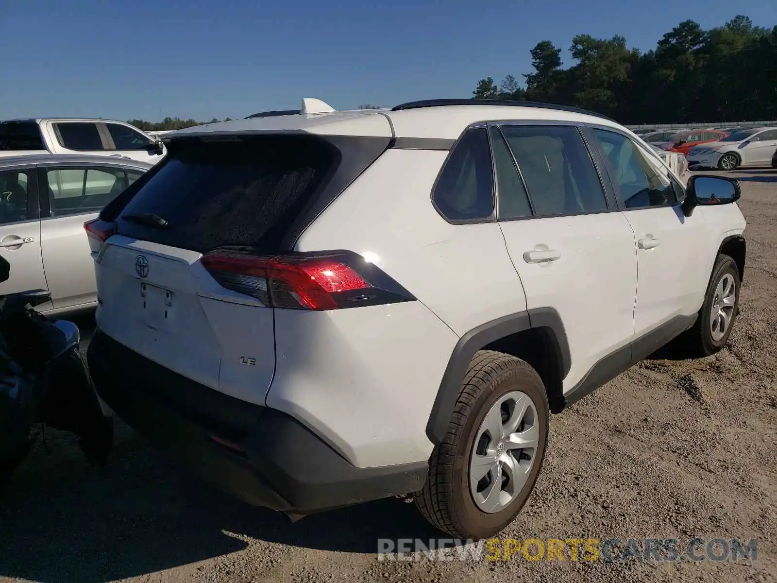
<instances>
[{"instance_id":1,"label":"large tinted window pane in the white SUV's rear side door","mask_svg":"<svg viewBox=\"0 0 777 583\"><path fill-rule=\"evenodd\" d=\"M577 127L508 125L502 132L535 215L607 210L605 191Z\"/></svg>"}]
</instances>

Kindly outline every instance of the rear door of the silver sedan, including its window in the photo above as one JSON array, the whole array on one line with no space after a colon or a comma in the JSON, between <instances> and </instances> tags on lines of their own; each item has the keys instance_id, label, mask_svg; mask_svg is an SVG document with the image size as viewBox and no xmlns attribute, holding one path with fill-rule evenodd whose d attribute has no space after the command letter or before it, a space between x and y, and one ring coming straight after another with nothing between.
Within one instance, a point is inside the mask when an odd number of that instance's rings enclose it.
<instances>
[{"instance_id":1,"label":"rear door of the silver sedan, including its window","mask_svg":"<svg viewBox=\"0 0 777 583\"><path fill-rule=\"evenodd\" d=\"M97 301L94 262L84 222L127 187L120 166L71 163L40 169L40 250L55 309Z\"/></svg>"}]
</instances>

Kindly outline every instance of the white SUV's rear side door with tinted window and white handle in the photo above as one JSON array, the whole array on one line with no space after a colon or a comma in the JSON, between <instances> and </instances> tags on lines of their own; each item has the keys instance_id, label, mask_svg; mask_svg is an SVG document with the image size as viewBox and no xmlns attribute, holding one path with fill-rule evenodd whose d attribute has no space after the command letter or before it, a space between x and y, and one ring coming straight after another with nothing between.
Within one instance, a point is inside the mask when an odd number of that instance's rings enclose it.
<instances>
[{"instance_id":1,"label":"white SUV's rear side door with tinted window and white handle","mask_svg":"<svg viewBox=\"0 0 777 583\"><path fill-rule=\"evenodd\" d=\"M565 326L572 355L566 393L632 339L632 230L577 127L505 124L490 134L499 225L527 307L555 309ZM629 349L623 354L625 368Z\"/></svg>"}]
</instances>

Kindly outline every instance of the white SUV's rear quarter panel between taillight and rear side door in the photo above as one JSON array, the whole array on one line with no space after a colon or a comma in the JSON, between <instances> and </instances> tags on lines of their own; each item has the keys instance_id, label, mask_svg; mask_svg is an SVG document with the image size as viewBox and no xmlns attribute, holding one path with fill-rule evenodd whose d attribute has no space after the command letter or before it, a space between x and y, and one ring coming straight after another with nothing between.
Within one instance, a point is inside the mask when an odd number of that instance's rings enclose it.
<instances>
[{"instance_id":1,"label":"white SUV's rear quarter panel between taillight and rear side door","mask_svg":"<svg viewBox=\"0 0 777 583\"><path fill-rule=\"evenodd\" d=\"M297 250L368 254L458 335L526 309L495 222L451 225L431 191L448 152L390 149L308 227Z\"/></svg>"}]
</instances>

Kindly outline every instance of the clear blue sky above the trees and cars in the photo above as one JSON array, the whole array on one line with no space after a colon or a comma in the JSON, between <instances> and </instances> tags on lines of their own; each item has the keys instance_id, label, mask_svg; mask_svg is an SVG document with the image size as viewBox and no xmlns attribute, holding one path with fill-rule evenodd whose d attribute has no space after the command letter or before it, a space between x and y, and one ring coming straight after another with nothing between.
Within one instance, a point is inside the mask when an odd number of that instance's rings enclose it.
<instances>
[{"instance_id":1,"label":"clear blue sky above the trees and cars","mask_svg":"<svg viewBox=\"0 0 777 583\"><path fill-rule=\"evenodd\" d=\"M478 79L530 72L529 49L577 33L646 51L685 19L777 2L545 0L0 0L0 119L245 117L318 97L361 103L469 97Z\"/></svg>"}]
</instances>

